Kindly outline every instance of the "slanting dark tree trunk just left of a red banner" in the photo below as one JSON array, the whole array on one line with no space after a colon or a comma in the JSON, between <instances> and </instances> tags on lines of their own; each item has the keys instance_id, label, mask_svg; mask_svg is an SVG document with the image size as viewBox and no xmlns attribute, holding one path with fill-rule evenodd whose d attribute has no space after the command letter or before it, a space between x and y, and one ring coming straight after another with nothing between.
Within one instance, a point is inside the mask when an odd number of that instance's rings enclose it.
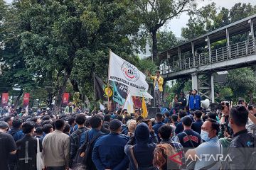
<instances>
[{"instance_id":1,"label":"slanting dark tree trunk just left of a red banner","mask_svg":"<svg viewBox=\"0 0 256 170\"><path fill-rule=\"evenodd\" d=\"M63 78L62 84L58 86L58 93L55 96L55 106L53 107L53 113L57 115L60 113L60 107L62 104L62 98L63 98L63 93L65 92L67 82L68 82L69 74L65 74Z\"/></svg>"}]
</instances>

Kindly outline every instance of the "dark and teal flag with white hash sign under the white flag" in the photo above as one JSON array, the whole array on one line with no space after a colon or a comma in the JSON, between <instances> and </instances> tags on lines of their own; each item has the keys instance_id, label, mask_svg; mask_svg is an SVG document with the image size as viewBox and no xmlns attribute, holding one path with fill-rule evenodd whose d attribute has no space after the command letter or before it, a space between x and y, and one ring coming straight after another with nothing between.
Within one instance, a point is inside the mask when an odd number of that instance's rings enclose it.
<instances>
[{"instance_id":1,"label":"dark and teal flag with white hash sign under the white flag","mask_svg":"<svg viewBox=\"0 0 256 170\"><path fill-rule=\"evenodd\" d=\"M127 89L128 86L112 81L113 87L113 101L119 103L119 105L123 106L125 102L125 98L127 97Z\"/></svg>"}]
</instances>

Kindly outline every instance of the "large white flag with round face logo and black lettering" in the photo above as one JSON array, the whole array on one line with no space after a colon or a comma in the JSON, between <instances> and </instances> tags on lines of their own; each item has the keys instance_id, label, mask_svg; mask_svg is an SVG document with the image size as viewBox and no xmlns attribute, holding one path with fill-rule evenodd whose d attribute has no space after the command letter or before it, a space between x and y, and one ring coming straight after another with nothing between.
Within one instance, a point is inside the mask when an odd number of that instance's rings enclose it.
<instances>
[{"instance_id":1,"label":"large white flag with round face logo and black lettering","mask_svg":"<svg viewBox=\"0 0 256 170\"><path fill-rule=\"evenodd\" d=\"M123 60L114 52L110 52L109 80L117 81L128 86L133 96L144 94L149 89L146 76L133 64ZM135 94L135 95L134 95Z\"/></svg>"}]
</instances>

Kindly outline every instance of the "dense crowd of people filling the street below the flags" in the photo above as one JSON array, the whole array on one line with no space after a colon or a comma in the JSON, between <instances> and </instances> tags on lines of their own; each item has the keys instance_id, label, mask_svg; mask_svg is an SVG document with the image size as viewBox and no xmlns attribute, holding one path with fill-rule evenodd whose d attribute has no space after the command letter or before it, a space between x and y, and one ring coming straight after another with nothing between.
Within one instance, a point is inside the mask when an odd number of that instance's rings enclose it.
<instances>
[{"instance_id":1,"label":"dense crowd of people filling the street below the flags","mask_svg":"<svg viewBox=\"0 0 256 170\"><path fill-rule=\"evenodd\" d=\"M151 119L139 109L88 113L73 103L60 115L50 109L5 114L0 169L256 169L249 125L256 108L243 102L201 111L187 109L183 98Z\"/></svg>"}]
</instances>

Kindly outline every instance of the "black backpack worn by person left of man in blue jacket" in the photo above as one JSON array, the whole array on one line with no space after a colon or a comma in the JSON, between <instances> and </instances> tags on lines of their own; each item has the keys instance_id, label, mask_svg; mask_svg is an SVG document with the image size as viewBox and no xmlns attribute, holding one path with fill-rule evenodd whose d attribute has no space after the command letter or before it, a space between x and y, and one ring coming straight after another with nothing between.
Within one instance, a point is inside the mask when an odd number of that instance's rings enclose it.
<instances>
[{"instance_id":1,"label":"black backpack worn by person left of man in blue jacket","mask_svg":"<svg viewBox=\"0 0 256 170\"><path fill-rule=\"evenodd\" d=\"M75 155L75 159L73 161L73 167L78 166L80 164L85 166L85 169L90 169L90 167L94 166L92 162L92 143L99 138L102 133L99 135L96 135L92 138L91 141L89 141L89 132L85 132L85 142L82 144L82 146L78 149L77 154Z\"/></svg>"}]
</instances>

